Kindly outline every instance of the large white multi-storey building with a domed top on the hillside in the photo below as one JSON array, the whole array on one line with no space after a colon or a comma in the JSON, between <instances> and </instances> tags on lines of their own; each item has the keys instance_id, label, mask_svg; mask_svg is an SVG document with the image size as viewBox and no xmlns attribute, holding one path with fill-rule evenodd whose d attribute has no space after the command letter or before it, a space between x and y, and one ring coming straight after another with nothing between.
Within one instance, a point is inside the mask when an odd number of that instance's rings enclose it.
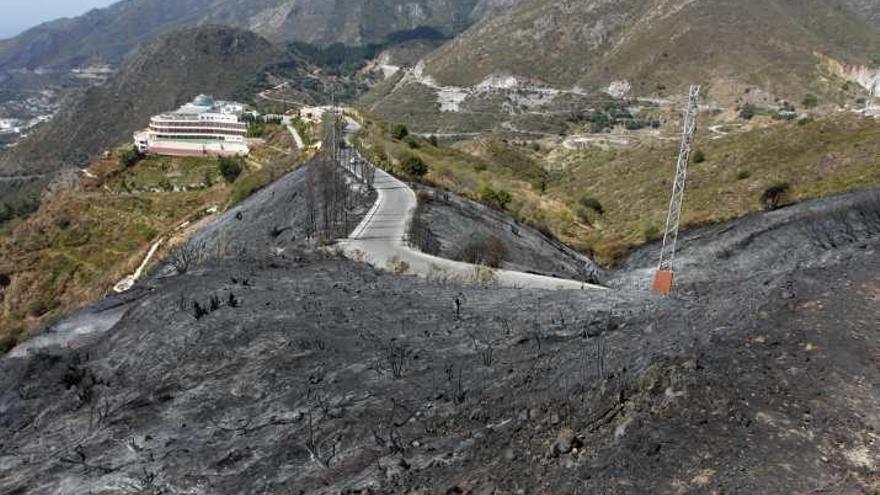
<instances>
[{"instance_id":1,"label":"large white multi-storey building with a domed top on the hillside","mask_svg":"<svg viewBox=\"0 0 880 495\"><path fill-rule=\"evenodd\" d=\"M250 152L245 106L199 95L174 112L156 115L134 134L142 153L170 156L236 156Z\"/></svg>"}]
</instances>

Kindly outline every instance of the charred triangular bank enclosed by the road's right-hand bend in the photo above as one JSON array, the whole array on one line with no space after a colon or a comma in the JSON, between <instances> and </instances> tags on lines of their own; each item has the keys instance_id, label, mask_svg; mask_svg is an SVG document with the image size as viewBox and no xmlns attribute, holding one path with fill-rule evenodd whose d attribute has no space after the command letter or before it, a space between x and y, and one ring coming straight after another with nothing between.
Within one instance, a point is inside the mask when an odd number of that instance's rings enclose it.
<instances>
[{"instance_id":1,"label":"charred triangular bank enclosed by the road's right-hand bend","mask_svg":"<svg viewBox=\"0 0 880 495\"><path fill-rule=\"evenodd\" d=\"M415 247L429 254L498 268L601 282L591 259L510 215L438 189L415 186L419 197L410 229Z\"/></svg>"}]
</instances>

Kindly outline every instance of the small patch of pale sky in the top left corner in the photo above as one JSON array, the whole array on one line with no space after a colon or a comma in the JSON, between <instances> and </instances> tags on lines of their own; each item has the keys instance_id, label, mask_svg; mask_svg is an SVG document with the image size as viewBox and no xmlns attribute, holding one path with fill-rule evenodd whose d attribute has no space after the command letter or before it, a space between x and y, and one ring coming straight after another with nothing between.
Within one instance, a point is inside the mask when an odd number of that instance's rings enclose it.
<instances>
[{"instance_id":1,"label":"small patch of pale sky in the top left corner","mask_svg":"<svg viewBox=\"0 0 880 495\"><path fill-rule=\"evenodd\" d=\"M37 24L72 17L118 0L0 0L0 39L11 38Z\"/></svg>"}]
</instances>

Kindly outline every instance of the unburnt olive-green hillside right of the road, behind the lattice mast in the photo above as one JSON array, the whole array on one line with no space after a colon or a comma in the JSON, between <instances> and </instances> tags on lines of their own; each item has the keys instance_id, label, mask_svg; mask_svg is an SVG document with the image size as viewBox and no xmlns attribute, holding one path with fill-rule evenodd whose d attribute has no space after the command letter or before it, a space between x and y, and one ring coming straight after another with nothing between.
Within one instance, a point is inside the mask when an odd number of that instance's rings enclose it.
<instances>
[{"instance_id":1,"label":"unburnt olive-green hillside right of the road, behind the lattice mast","mask_svg":"<svg viewBox=\"0 0 880 495\"><path fill-rule=\"evenodd\" d=\"M480 138L412 150L391 140L385 129L368 122L362 136L371 145L365 153L377 163L394 169L395 162L415 154L428 166L426 183L494 205L499 191L506 192L500 204L514 217L605 265L655 239L665 221L675 141L535 151ZM781 182L790 185L785 202L880 186L880 127L871 119L834 115L807 123L777 121L723 139L698 134L697 141L711 159L695 160L691 167L685 226L759 211L762 193Z\"/></svg>"}]
</instances>

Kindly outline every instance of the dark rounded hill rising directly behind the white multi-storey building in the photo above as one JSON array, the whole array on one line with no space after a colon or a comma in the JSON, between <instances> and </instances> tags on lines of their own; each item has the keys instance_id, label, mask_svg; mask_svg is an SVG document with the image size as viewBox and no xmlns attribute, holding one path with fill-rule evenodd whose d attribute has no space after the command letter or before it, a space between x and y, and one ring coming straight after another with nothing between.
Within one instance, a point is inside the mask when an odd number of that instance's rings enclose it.
<instances>
[{"instance_id":1,"label":"dark rounded hill rising directly behind the white multi-storey building","mask_svg":"<svg viewBox=\"0 0 880 495\"><path fill-rule=\"evenodd\" d=\"M169 33L107 84L88 90L0 156L0 171L53 172L81 166L90 156L128 139L150 115L199 93L233 96L278 56L268 41L247 31L207 26Z\"/></svg>"}]
</instances>

